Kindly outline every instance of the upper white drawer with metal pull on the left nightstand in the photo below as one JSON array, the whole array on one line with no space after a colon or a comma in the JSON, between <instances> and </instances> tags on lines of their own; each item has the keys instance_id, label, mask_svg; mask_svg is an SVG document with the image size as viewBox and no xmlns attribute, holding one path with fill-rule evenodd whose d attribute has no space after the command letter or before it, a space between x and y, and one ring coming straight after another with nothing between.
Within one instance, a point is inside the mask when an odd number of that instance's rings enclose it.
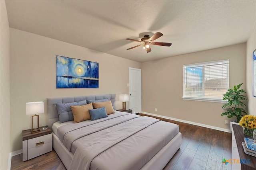
<instances>
[{"instance_id":1,"label":"upper white drawer with metal pull on the left nightstand","mask_svg":"<svg viewBox=\"0 0 256 170\"><path fill-rule=\"evenodd\" d=\"M52 133L48 135L36 137L33 139L28 139L28 149L39 147L40 145L44 145L50 142L52 142Z\"/></svg>"}]
</instances>

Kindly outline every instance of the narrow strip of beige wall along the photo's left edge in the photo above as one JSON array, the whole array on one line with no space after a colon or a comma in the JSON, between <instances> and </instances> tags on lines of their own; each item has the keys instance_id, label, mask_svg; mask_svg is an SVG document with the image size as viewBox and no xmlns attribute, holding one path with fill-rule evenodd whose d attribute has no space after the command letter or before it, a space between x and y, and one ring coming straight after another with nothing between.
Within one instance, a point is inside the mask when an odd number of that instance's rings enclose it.
<instances>
[{"instance_id":1,"label":"narrow strip of beige wall along the photo's left edge","mask_svg":"<svg viewBox=\"0 0 256 170\"><path fill-rule=\"evenodd\" d=\"M10 29L5 1L0 1L0 169L7 169L10 152Z\"/></svg>"}]
</instances>

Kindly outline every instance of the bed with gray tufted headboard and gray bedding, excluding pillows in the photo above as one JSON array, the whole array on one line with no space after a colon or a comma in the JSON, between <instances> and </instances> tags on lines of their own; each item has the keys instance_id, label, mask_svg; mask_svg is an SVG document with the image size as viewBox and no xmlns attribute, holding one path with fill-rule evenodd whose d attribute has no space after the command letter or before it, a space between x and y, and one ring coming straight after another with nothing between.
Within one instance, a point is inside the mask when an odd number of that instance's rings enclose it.
<instances>
[{"instance_id":1,"label":"bed with gray tufted headboard and gray bedding, excluding pillows","mask_svg":"<svg viewBox=\"0 0 256 170\"><path fill-rule=\"evenodd\" d=\"M110 100L113 114L79 123L62 121L56 104ZM67 169L160 170L180 148L176 124L116 111L116 95L48 98L53 148Z\"/></svg>"}]
</instances>

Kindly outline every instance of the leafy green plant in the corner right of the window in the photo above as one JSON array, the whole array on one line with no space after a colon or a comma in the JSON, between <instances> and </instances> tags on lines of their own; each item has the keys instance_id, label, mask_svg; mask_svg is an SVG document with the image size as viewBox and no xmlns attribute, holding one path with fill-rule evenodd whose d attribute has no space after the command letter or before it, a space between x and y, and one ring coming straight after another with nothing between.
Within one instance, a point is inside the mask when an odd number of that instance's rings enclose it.
<instances>
[{"instance_id":1,"label":"leafy green plant in the corner right of the window","mask_svg":"<svg viewBox=\"0 0 256 170\"><path fill-rule=\"evenodd\" d=\"M247 115L244 108L242 108L246 106L243 102L246 100L246 96L242 95L246 92L243 89L239 90L242 84L234 86L234 89L228 89L228 92L223 95L223 100L227 100L227 103L222 106L226 111L221 113L221 115L228 115L228 118L236 117L236 122L239 122L244 115Z\"/></svg>"}]
</instances>

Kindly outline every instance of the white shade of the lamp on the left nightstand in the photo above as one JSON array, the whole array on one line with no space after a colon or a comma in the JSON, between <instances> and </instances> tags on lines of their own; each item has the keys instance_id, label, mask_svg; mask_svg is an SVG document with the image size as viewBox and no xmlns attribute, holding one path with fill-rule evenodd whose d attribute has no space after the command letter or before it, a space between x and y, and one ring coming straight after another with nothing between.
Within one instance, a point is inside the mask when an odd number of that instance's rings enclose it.
<instances>
[{"instance_id":1,"label":"white shade of the lamp on the left nightstand","mask_svg":"<svg viewBox=\"0 0 256 170\"><path fill-rule=\"evenodd\" d=\"M26 115L34 115L39 113L44 113L44 102L26 103Z\"/></svg>"}]
</instances>

